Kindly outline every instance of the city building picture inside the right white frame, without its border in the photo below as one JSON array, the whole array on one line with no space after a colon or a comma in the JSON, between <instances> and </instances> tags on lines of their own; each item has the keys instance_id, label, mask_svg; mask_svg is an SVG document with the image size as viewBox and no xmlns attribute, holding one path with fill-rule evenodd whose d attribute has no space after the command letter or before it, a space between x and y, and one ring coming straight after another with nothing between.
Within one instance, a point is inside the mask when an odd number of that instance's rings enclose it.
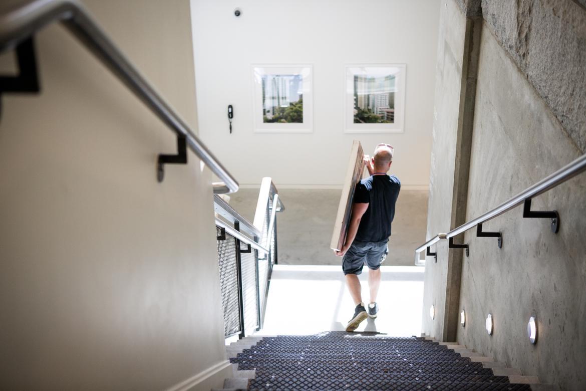
<instances>
[{"instance_id":1,"label":"city building picture inside the right white frame, without its border","mask_svg":"<svg viewBox=\"0 0 586 391\"><path fill-rule=\"evenodd\" d=\"M392 124L395 115L394 74L354 76L354 123Z\"/></svg>"}]
</instances>

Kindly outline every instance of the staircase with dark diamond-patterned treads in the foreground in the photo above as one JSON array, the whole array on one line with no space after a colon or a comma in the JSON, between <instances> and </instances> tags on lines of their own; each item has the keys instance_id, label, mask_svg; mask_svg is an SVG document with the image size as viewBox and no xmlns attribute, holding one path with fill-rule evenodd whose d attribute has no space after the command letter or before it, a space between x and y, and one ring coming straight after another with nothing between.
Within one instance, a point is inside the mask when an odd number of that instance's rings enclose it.
<instances>
[{"instance_id":1,"label":"staircase with dark diamond-patterned treads in the foreground","mask_svg":"<svg viewBox=\"0 0 586 391\"><path fill-rule=\"evenodd\" d=\"M536 390L460 345L377 332L253 336L227 347L236 378L224 390Z\"/></svg>"}]
</instances>

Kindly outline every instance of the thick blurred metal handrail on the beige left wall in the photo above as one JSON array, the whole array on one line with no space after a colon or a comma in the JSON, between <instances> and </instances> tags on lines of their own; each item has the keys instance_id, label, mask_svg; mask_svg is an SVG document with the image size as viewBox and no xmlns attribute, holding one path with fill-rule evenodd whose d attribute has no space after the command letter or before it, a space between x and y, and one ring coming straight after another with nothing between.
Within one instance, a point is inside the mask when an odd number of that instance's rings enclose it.
<instances>
[{"instance_id":1,"label":"thick blurred metal handrail on the beige left wall","mask_svg":"<svg viewBox=\"0 0 586 391\"><path fill-rule=\"evenodd\" d=\"M53 22L62 22L80 42L96 55L115 76L219 176L225 186L214 191L236 192L239 184L212 152L197 138L175 110L128 61L104 30L76 0L35 0L0 15L0 52L11 49Z\"/></svg>"}]
</instances>

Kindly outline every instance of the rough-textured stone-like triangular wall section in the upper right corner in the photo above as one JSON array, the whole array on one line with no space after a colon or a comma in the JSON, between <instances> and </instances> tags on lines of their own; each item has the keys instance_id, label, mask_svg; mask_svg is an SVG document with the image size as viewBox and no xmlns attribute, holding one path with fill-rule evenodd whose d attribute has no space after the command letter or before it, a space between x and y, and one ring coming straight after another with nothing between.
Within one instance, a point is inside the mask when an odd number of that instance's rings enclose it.
<instances>
[{"instance_id":1,"label":"rough-textured stone-like triangular wall section in the upper right corner","mask_svg":"<svg viewBox=\"0 0 586 391\"><path fill-rule=\"evenodd\" d=\"M484 0L482 13L490 32L586 151L586 9L566 0Z\"/></svg>"}]
</instances>

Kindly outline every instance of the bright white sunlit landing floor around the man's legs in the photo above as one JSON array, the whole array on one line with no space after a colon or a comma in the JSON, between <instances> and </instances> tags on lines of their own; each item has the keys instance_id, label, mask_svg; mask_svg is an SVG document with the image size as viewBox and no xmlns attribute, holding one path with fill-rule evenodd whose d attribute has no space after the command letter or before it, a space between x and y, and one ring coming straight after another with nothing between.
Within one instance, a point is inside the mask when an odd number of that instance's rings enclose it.
<instances>
[{"instance_id":1,"label":"bright white sunlit landing floor around the man's legs","mask_svg":"<svg viewBox=\"0 0 586 391\"><path fill-rule=\"evenodd\" d=\"M379 315L356 329L389 336L421 334L423 267L381 266ZM368 268L360 274L362 299L369 301ZM355 305L341 266L275 265L264 327L257 334L316 334L343 331Z\"/></svg>"}]
</instances>

